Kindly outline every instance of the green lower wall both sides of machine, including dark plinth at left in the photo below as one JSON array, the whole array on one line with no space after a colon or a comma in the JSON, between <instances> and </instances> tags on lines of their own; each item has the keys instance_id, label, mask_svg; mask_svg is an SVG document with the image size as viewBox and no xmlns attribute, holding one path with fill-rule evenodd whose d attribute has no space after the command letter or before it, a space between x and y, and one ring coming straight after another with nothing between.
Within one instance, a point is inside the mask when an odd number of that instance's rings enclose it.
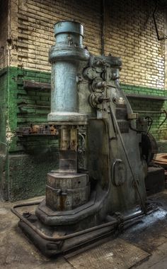
<instances>
[{"instance_id":1,"label":"green lower wall both sides of machine, including dark plinth at left","mask_svg":"<svg viewBox=\"0 0 167 269\"><path fill-rule=\"evenodd\" d=\"M30 126L30 123L47 123L47 114L50 112L50 91L25 90L23 81L33 80L50 83L50 72L10 67L6 68L3 74L0 76L0 108L2 111L0 138L1 142L6 143L7 137L8 146L0 144L0 188L2 190L1 197L14 201L45 194L47 172L57 169L58 145L57 139L54 137L21 138L16 135L18 127ZM121 86L126 93L159 96L166 94L163 89L128 84ZM166 109L166 101L132 98L129 98L129 101L134 110L161 111ZM31 106L20 109L18 105L23 102ZM49 106L49 108L38 108L38 105ZM165 140L167 137L166 123L163 123L159 128L165 115L150 113L142 113L142 115L152 117L154 123L151 127L151 133L157 140Z\"/></svg>"}]
</instances>

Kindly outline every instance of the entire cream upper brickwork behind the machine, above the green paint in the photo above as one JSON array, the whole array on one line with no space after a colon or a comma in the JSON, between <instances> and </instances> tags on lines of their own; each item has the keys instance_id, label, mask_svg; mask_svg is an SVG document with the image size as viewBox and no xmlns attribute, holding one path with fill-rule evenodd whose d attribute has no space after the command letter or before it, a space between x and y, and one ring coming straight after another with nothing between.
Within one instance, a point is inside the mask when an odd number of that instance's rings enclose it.
<instances>
[{"instance_id":1,"label":"entire cream upper brickwork behind the machine, above the green paint","mask_svg":"<svg viewBox=\"0 0 167 269\"><path fill-rule=\"evenodd\" d=\"M12 1L12 39L16 47L11 65L50 71L48 50L54 44L53 25L64 19L84 24L84 43L93 54L101 51L100 1ZM122 58L121 81L164 87L164 42L158 41L152 13L154 1L105 1L105 53ZM157 11L163 34L164 14ZM16 25L18 31L16 31ZM12 26L12 25L11 25Z\"/></svg>"}]
</instances>

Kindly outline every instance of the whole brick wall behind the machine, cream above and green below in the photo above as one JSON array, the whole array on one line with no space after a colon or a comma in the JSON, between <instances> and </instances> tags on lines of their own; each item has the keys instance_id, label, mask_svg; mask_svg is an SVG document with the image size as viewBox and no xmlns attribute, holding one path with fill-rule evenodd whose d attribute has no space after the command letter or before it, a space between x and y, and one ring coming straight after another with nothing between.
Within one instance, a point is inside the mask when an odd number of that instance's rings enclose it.
<instances>
[{"instance_id":1,"label":"whole brick wall behind the machine, cream above and green below","mask_svg":"<svg viewBox=\"0 0 167 269\"><path fill-rule=\"evenodd\" d=\"M8 1L4 1L8 2ZM45 193L48 171L57 168L57 140L52 137L17 136L18 127L47 123L50 91L25 90L24 80L50 83L48 50L54 45L53 25L59 20L75 19L84 24L84 44L94 55L102 50L103 1L95 0L13 0L5 12L8 33L1 37L8 61L0 75L0 180L4 199L24 199ZM154 1L105 0L104 50L122 58L120 82L127 93L166 96L164 79L164 42L158 41L151 16ZM164 31L164 11L157 12L159 31ZM134 110L161 111L165 101L129 99ZM19 108L21 103L28 106ZM38 107L40 106L40 107ZM151 114L151 133L166 139L164 114ZM4 144L2 144L4 143Z\"/></svg>"}]
</instances>

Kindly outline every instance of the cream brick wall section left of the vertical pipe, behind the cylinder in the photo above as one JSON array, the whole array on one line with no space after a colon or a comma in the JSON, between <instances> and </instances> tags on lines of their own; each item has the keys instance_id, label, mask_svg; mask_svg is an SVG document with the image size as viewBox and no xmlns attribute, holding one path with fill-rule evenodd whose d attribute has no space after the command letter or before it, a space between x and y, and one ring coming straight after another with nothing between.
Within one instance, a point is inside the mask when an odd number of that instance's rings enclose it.
<instances>
[{"instance_id":1,"label":"cream brick wall section left of the vertical pipe, behind the cylinder","mask_svg":"<svg viewBox=\"0 0 167 269\"><path fill-rule=\"evenodd\" d=\"M16 11L16 6L13 7ZM50 71L48 51L54 44L56 21L75 18L84 24L85 43L92 53L100 53L100 1L21 1L18 31L12 31L16 50L11 65Z\"/></svg>"}]
</instances>

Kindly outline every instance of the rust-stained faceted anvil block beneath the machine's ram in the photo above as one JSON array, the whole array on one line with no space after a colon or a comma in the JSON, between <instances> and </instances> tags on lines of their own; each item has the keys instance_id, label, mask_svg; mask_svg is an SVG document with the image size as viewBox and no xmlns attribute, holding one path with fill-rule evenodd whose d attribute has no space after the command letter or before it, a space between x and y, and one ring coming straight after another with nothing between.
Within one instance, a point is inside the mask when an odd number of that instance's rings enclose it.
<instances>
[{"instance_id":1,"label":"rust-stained faceted anvil block beneath the machine's ram","mask_svg":"<svg viewBox=\"0 0 167 269\"><path fill-rule=\"evenodd\" d=\"M74 209L88 202L90 183L83 173L51 172L47 174L46 205L53 210Z\"/></svg>"}]
</instances>

